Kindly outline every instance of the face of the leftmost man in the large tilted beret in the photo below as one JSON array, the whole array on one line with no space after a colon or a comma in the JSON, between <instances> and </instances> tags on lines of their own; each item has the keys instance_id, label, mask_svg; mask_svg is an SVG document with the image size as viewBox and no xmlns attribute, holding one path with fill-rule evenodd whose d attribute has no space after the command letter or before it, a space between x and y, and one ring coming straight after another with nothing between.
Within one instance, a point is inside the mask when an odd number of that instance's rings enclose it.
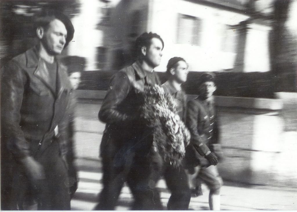
<instances>
[{"instance_id":1,"label":"face of the leftmost man in the large tilted beret","mask_svg":"<svg viewBox=\"0 0 297 212\"><path fill-rule=\"evenodd\" d=\"M54 19L50 22L41 40L50 55L59 55L66 43L66 37L67 30L65 25L60 20Z\"/></svg>"}]
</instances>

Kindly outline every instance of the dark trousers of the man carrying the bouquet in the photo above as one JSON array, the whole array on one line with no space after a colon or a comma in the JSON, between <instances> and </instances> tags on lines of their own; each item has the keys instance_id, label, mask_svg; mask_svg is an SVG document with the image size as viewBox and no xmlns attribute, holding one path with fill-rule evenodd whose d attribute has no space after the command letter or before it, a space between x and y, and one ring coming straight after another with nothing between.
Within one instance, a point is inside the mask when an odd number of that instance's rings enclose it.
<instances>
[{"instance_id":1,"label":"dark trousers of the man carrying the bouquet","mask_svg":"<svg viewBox=\"0 0 297 212\"><path fill-rule=\"evenodd\" d=\"M133 197L132 210L162 210L156 183L160 178L161 158L152 149L152 138L145 141L113 140L104 133L101 143L103 189L96 210L114 210L124 182ZM106 139L106 140L105 140Z\"/></svg>"}]
</instances>

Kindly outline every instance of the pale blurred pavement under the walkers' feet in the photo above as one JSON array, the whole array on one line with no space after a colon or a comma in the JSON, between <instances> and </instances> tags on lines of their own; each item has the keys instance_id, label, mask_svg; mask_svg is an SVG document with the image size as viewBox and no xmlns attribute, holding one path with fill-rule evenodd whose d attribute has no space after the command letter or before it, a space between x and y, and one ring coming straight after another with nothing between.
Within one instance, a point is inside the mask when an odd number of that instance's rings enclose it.
<instances>
[{"instance_id":1,"label":"pale blurred pavement under the walkers' feet","mask_svg":"<svg viewBox=\"0 0 297 212\"><path fill-rule=\"evenodd\" d=\"M102 189L101 163L99 160L78 158L79 186L71 201L72 210L92 210L97 204L97 196ZM232 186L230 185L232 184ZM267 186L242 187L226 183L221 189L221 210L297 210L297 189L285 189ZM170 193L165 181L157 185L161 190L161 200L166 208ZM209 210L208 189L203 184L203 196L192 197L189 208L192 210ZM119 197L116 210L130 209L133 198L125 185Z\"/></svg>"}]
</instances>

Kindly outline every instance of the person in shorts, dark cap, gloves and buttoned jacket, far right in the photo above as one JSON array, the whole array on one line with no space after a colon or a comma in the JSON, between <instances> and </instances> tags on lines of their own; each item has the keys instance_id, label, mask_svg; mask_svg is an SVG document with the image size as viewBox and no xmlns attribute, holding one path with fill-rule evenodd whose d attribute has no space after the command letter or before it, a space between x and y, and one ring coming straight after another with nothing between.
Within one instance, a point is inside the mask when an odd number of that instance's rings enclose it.
<instances>
[{"instance_id":1,"label":"person in shorts, dark cap, gloves and buttoned jacket, far right","mask_svg":"<svg viewBox=\"0 0 297 212\"><path fill-rule=\"evenodd\" d=\"M220 210L223 181L216 165L222 152L212 96L216 90L214 74L202 74L198 86L200 95L187 104L186 125L191 133L191 142L186 147L184 162L189 173L190 188L195 189L200 181L205 182L210 189L210 210Z\"/></svg>"}]
</instances>

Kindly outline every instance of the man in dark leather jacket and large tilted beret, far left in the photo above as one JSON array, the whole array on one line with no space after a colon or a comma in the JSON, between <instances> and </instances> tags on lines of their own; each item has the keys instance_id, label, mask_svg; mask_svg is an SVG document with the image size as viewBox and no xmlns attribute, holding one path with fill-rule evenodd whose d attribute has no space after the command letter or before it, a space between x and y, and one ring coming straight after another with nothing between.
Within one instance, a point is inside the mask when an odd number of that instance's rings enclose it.
<instances>
[{"instance_id":1,"label":"man in dark leather jacket and large tilted beret, far left","mask_svg":"<svg viewBox=\"0 0 297 212\"><path fill-rule=\"evenodd\" d=\"M61 132L71 85L56 55L74 28L65 15L46 12L35 30L38 44L1 69L1 209L25 209L30 194L38 210L70 210Z\"/></svg>"}]
</instances>

